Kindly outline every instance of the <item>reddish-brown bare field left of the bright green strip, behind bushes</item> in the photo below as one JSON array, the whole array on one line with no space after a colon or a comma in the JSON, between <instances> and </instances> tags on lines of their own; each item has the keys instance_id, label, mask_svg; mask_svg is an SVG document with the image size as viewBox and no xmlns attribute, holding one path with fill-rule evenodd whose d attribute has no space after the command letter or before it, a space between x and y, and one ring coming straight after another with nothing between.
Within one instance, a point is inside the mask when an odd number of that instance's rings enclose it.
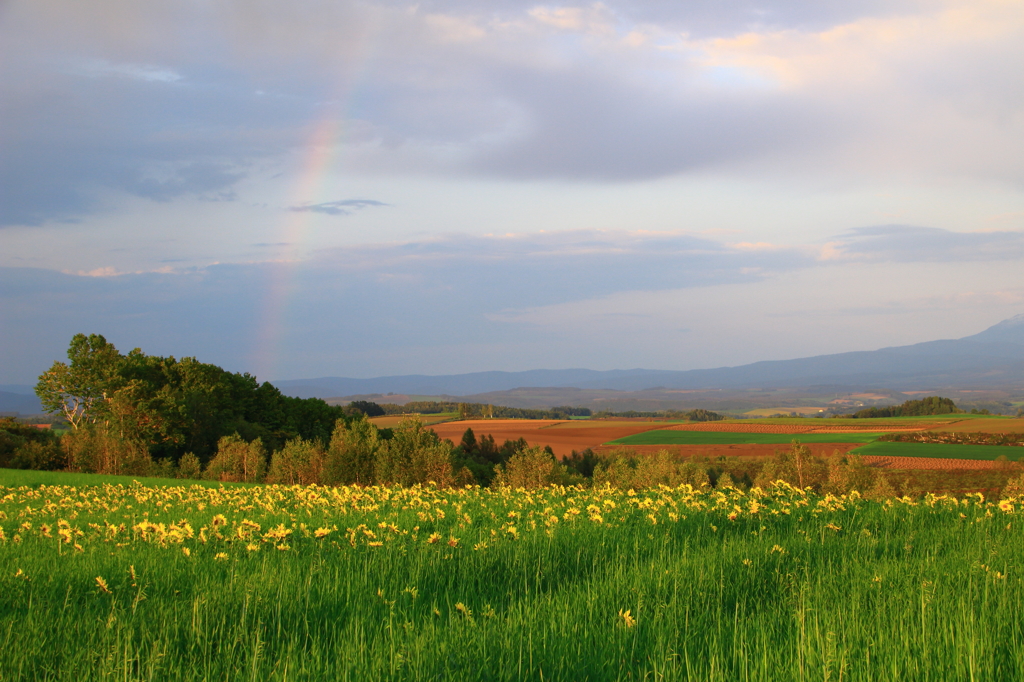
<instances>
[{"instance_id":1,"label":"reddish-brown bare field left of the bright green strip, behind bushes","mask_svg":"<svg viewBox=\"0 0 1024 682\"><path fill-rule=\"evenodd\" d=\"M466 429L473 429L479 438L490 434L501 445L506 440L525 438L530 445L551 445L555 455L561 457L573 450L583 451L587 447L595 450L604 442L623 438L634 433L649 431L665 426L665 423L651 422L594 422L585 421L547 421L534 419L481 419L462 422L437 424L433 430L441 438L449 438L456 444L462 440Z\"/></svg>"}]
</instances>

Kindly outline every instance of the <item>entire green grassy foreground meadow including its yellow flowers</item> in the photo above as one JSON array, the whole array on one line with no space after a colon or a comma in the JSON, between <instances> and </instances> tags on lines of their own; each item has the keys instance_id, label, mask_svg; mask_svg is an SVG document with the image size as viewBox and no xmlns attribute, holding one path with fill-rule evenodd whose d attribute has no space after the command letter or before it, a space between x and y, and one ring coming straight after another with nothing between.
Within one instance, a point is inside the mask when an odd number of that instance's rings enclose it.
<instances>
[{"instance_id":1,"label":"entire green grassy foreground meadow including its yellow flowers","mask_svg":"<svg viewBox=\"0 0 1024 682\"><path fill-rule=\"evenodd\" d=\"M0 679L1020 679L1021 509L784 484L8 485Z\"/></svg>"}]
</instances>

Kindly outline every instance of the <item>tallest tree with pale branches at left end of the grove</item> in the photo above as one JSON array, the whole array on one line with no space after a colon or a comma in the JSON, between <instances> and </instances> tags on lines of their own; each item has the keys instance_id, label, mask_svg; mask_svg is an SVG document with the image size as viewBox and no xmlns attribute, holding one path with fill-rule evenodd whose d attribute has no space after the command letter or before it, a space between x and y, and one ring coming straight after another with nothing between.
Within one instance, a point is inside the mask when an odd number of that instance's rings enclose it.
<instances>
[{"instance_id":1,"label":"tallest tree with pale branches at left end of the grove","mask_svg":"<svg viewBox=\"0 0 1024 682\"><path fill-rule=\"evenodd\" d=\"M68 348L71 365L56 361L39 376L36 395L46 412L61 413L78 429L93 423L119 383L121 353L99 334L76 334Z\"/></svg>"}]
</instances>

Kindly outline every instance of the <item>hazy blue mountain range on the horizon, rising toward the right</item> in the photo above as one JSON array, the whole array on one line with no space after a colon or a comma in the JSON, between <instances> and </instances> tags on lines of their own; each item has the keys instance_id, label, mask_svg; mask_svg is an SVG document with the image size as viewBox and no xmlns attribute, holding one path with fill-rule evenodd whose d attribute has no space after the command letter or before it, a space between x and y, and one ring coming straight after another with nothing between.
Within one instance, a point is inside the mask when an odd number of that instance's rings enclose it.
<instances>
[{"instance_id":1,"label":"hazy blue mountain range on the horizon, rising toward the right","mask_svg":"<svg viewBox=\"0 0 1024 682\"><path fill-rule=\"evenodd\" d=\"M462 396L522 387L621 391L800 386L1019 389L1024 388L1024 314L963 339L714 370L530 370L375 379L325 377L273 384L289 395L323 398L386 393Z\"/></svg>"}]
</instances>

